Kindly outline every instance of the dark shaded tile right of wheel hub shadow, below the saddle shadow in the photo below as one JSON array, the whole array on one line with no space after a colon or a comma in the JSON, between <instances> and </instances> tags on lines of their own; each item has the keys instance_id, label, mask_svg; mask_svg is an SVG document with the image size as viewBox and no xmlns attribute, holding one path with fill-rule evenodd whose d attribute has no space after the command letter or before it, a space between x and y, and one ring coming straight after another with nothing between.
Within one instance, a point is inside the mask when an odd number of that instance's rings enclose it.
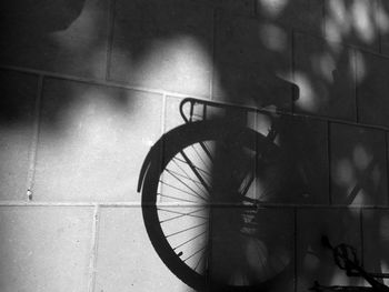
<instances>
[{"instance_id":1,"label":"dark shaded tile right of wheel hub shadow, below the saddle shadow","mask_svg":"<svg viewBox=\"0 0 389 292\"><path fill-rule=\"evenodd\" d=\"M327 123L288 115L276 118L272 123L278 127L278 149L267 153L258 145L265 153L257 167L259 199L271 203L328 203ZM267 135L270 124L259 114L259 132Z\"/></svg>"}]
</instances>

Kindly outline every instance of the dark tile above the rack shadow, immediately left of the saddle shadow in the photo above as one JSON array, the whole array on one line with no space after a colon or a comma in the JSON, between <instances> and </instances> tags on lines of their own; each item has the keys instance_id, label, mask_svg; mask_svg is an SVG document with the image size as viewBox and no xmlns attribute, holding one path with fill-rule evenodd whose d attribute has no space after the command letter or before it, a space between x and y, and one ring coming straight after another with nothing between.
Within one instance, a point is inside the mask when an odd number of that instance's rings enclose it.
<instances>
[{"instance_id":1,"label":"dark tile above the rack shadow, immediately left of the saddle shadow","mask_svg":"<svg viewBox=\"0 0 389 292\"><path fill-rule=\"evenodd\" d=\"M291 37L281 27L219 13L212 94L249 105L288 107Z\"/></svg>"}]
</instances>

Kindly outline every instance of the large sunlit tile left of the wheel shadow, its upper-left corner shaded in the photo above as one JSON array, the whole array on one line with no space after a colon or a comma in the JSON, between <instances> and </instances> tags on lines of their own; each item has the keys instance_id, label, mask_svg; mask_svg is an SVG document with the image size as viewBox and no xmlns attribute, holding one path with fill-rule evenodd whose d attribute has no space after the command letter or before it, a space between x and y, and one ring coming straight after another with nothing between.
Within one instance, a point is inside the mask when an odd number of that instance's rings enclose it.
<instances>
[{"instance_id":1,"label":"large sunlit tile left of the wheel shadow, its upper-left corner shaded","mask_svg":"<svg viewBox=\"0 0 389 292\"><path fill-rule=\"evenodd\" d=\"M143 159L161 131L162 97L48 79L34 198L139 201Z\"/></svg>"}]
</instances>

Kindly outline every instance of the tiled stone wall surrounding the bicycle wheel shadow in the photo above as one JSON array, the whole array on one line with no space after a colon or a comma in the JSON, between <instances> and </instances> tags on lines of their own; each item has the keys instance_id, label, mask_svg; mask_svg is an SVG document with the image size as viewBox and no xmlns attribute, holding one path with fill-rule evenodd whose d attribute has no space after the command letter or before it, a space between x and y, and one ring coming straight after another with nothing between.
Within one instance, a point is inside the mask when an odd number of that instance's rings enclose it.
<instances>
[{"instance_id":1,"label":"tiled stone wall surrounding the bicycle wheel shadow","mask_svg":"<svg viewBox=\"0 0 389 292\"><path fill-rule=\"evenodd\" d=\"M153 251L137 193L184 97L307 115L283 129L311 172L308 201L276 210L289 291L358 282L322 233L388 272L385 0L16 2L0 37L1 291L191 291Z\"/></svg>"}]
</instances>

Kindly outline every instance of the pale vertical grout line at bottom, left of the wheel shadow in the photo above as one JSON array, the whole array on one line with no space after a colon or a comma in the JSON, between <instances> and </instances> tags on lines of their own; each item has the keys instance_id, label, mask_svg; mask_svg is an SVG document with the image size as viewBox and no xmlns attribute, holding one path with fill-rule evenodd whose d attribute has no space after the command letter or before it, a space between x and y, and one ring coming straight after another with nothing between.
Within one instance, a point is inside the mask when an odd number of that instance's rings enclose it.
<instances>
[{"instance_id":1,"label":"pale vertical grout line at bottom, left of the wheel shadow","mask_svg":"<svg viewBox=\"0 0 389 292\"><path fill-rule=\"evenodd\" d=\"M100 230L100 207L94 205L93 211L93 223L92 223L92 244L91 244L91 255L89 261L89 283L88 292L93 292L96 286L96 272L97 272L97 258L99 249L99 230Z\"/></svg>"}]
</instances>

